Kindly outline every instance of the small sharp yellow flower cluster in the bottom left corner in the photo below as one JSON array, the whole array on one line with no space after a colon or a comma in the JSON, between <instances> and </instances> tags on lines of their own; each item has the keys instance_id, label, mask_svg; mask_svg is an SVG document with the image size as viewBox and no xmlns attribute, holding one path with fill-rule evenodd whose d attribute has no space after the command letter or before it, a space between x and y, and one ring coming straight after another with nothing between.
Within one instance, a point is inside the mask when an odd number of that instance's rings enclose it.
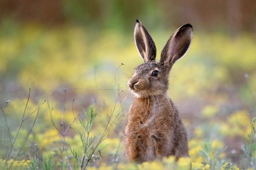
<instances>
[{"instance_id":1,"label":"small sharp yellow flower cluster in the bottom left corner","mask_svg":"<svg viewBox=\"0 0 256 170\"><path fill-rule=\"evenodd\" d=\"M22 169L29 169L29 165L31 166L30 160L22 160L22 161L14 161L13 159L10 159L7 161L5 165L6 160L0 159L0 168L3 169L4 166L10 167L11 170L22 170ZM37 168L38 169L38 168Z\"/></svg>"}]
</instances>

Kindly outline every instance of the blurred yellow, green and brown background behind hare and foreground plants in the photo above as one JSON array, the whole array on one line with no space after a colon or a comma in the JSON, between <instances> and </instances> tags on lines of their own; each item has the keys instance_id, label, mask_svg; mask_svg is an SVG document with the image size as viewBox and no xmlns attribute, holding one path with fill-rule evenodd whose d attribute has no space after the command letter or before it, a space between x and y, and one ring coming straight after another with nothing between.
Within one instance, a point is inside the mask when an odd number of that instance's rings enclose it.
<instances>
[{"instance_id":1,"label":"blurred yellow, green and brown background behind hare and foreground plants","mask_svg":"<svg viewBox=\"0 0 256 170\"><path fill-rule=\"evenodd\" d=\"M193 25L191 48L172 68L168 95L181 111L190 147L197 147L194 139L212 138L214 146L228 146L222 156L239 166L239 147L248 140L250 119L256 116L256 2L251 0L1 0L0 103L3 107L11 100L5 112L12 137L19 127L29 88L26 115L48 100L58 127L64 100L64 91L59 89L110 89L67 90L65 96L64 126L73 121L74 99L76 115L82 113L81 106L94 103L99 115L92 134L102 133L116 101L116 88L124 90L125 95L127 80L143 63L133 38L136 19L153 37L157 60L175 29L186 23ZM124 65L116 71L121 63ZM111 136L123 135L131 103L132 94L128 94L118 104L115 114L121 114ZM33 116L22 125L15 148L22 144ZM3 127L2 159L4 148L8 148L8 133ZM67 144L81 155L77 129L81 129L79 123L69 129ZM47 103L40 109L23 155L32 142L31 156L55 153L58 159L65 159ZM106 144L97 166L113 163L116 155L122 159L122 138L107 139L100 147ZM197 150L191 150L192 158Z\"/></svg>"}]
</instances>

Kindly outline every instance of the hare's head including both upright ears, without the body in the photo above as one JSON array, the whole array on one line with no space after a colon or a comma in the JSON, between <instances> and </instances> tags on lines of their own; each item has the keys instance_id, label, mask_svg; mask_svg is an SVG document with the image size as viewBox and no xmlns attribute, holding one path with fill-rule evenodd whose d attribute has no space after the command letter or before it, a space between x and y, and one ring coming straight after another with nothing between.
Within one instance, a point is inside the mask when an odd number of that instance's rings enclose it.
<instances>
[{"instance_id":1,"label":"hare's head including both upright ears, without the body","mask_svg":"<svg viewBox=\"0 0 256 170\"><path fill-rule=\"evenodd\" d=\"M127 82L128 87L137 97L164 94L168 89L168 77L173 64L180 60L190 47L193 39L192 26L185 24L174 31L158 62L155 42L139 20L135 26L134 39L144 63L135 68L135 73Z\"/></svg>"}]
</instances>

